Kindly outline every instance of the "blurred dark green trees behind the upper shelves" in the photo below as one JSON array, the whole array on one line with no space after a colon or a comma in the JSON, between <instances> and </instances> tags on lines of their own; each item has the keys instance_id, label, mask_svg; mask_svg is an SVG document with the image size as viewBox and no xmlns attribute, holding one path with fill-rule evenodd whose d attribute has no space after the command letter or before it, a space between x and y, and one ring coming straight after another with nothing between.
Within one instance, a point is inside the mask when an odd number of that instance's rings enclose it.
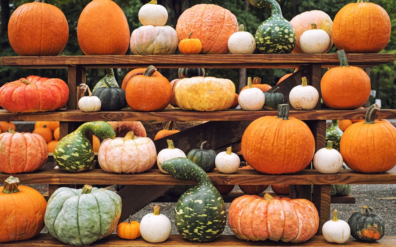
<instances>
[{"instance_id":1,"label":"blurred dark green trees behind the upper shelves","mask_svg":"<svg viewBox=\"0 0 396 247\"><path fill-rule=\"evenodd\" d=\"M33 1L33 0L30 0ZM1 5L1 56L17 56L12 50L7 36L8 19L18 6L29 2L28 0L2 0ZM90 0L51 0L48 3L57 6L65 13L69 22L69 42L61 55L83 55L77 42L77 21L83 8L90 2ZM115 0L115 2L124 10L126 18L128 19L129 29L132 32L134 29L141 26L138 19L138 12L140 7L149 2L141 0ZM334 19L335 14L343 6L353 0L278 0L284 17L291 20L295 15L309 10L322 10L326 12L331 19ZM396 53L396 0L373 0L375 4L382 6L390 16L392 23L392 34L388 46L383 52ZM268 8L258 9L244 0L159 0L158 4L166 7L169 13L167 25L175 27L177 18L187 8L200 3L217 4L230 10L238 20L238 24L245 25L245 31L255 34L259 24L270 16ZM330 53L335 52L335 46ZM131 54L128 51L127 54ZM114 68L116 69L116 68ZM264 83L274 85L280 77L286 73L293 72L294 69L247 69L247 76L261 77ZM119 84L122 82L124 75L128 69L117 69L116 79ZM177 78L177 69L160 69L160 72L168 77L169 81ZM323 73L325 70L323 70ZM87 82L92 88L93 85L105 75L105 69L87 69ZM228 78L235 82L238 87L239 70L238 69L207 69L207 75ZM28 75L39 75L43 77L58 77L67 80L66 69L17 69L13 67L0 67L0 85L17 80ZM377 96L382 100L383 108L396 109L396 68L395 63L385 64L373 67L370 73L371 88L377 90ZM380 90L379 85L381 85ZM371 103L373 102L371 98Z\"/></svg>"}]
</instances>

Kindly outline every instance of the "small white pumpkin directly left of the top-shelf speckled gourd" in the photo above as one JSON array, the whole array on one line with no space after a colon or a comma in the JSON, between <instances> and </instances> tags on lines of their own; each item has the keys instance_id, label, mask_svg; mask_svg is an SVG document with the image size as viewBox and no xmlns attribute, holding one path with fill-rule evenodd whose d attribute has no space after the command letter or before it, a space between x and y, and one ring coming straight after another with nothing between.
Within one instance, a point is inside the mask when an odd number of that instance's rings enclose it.
<instances>
[{"instance_id":1,"label":"small white pumpkin directly left of the top-shelf speckled gourd","mask_svg":"<svg viewBox=\"0 0 396 247\"><path fill-rule=\"evenodd\" d=\"M228 38L228 50L231 54L253 54L256 50L256 41L251 33L244 31L243 24Z\"/></svg>"}]
</instances>

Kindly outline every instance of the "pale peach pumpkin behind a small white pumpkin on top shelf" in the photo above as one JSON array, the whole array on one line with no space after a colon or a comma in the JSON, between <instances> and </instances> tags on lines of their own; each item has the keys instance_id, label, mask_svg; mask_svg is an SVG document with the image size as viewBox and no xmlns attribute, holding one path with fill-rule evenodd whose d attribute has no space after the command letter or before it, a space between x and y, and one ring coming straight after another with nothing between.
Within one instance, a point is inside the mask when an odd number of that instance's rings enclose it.
<instances>
[{"instance_id":1,"label":"pale peach pumpkin behind a small white pumpkin on top shelf","mask_svg":"<svg viewBox=\"0 0 396 247\"><path fill-rule=\"evenodd\" d=\"M328 52L333 46L332 29L333 21L330 16L321 10L305 11L299 15L296 15L290 21L291 25L296 32L296 44L292 53L302 54L303 50L300 47L301 34L312 28L311 23L316 23L318 29L326 31L330 38L329 45L324 53Z\"/></svg>"}]
</instances>

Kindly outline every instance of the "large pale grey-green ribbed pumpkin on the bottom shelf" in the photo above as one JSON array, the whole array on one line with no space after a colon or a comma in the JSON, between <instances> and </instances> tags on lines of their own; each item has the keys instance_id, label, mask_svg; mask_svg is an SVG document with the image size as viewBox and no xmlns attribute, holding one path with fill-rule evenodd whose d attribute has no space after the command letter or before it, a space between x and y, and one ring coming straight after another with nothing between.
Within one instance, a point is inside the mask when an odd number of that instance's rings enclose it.
<instances>
[{"instance_id":1,"label":"large pale grey-green ribbed pumpkin on the bottom shelf","mask_svg":"<svg viewBox=\"0 0 396 247\"><path fill-rule=\"evenodd\" d=\"M89 245L109 236L121 216L121 197L89 185L61 187L48 200L44 222L48 232L70 245Z\"/></svg>"}]
</instances>

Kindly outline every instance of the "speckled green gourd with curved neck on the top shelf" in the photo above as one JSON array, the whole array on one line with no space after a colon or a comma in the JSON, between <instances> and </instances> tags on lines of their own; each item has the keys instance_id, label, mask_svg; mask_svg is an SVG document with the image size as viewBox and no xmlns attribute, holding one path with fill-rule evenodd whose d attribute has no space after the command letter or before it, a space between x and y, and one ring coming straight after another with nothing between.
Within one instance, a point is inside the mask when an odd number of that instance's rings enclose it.
<instances>
[{"instance_id":1,"label":"speckled green gourd with curved neck on the top shelf","mask_svg":"<svg viewBox=\"0 0 396 247\"><path fill-rule=\"evenodd\" d=\"M256 8L269 7L271 16L256 31L256 47L261 53L291 53L296 43L293 26L282 16L276 0L247 0Z\"/></svg>"}]
</instances>

